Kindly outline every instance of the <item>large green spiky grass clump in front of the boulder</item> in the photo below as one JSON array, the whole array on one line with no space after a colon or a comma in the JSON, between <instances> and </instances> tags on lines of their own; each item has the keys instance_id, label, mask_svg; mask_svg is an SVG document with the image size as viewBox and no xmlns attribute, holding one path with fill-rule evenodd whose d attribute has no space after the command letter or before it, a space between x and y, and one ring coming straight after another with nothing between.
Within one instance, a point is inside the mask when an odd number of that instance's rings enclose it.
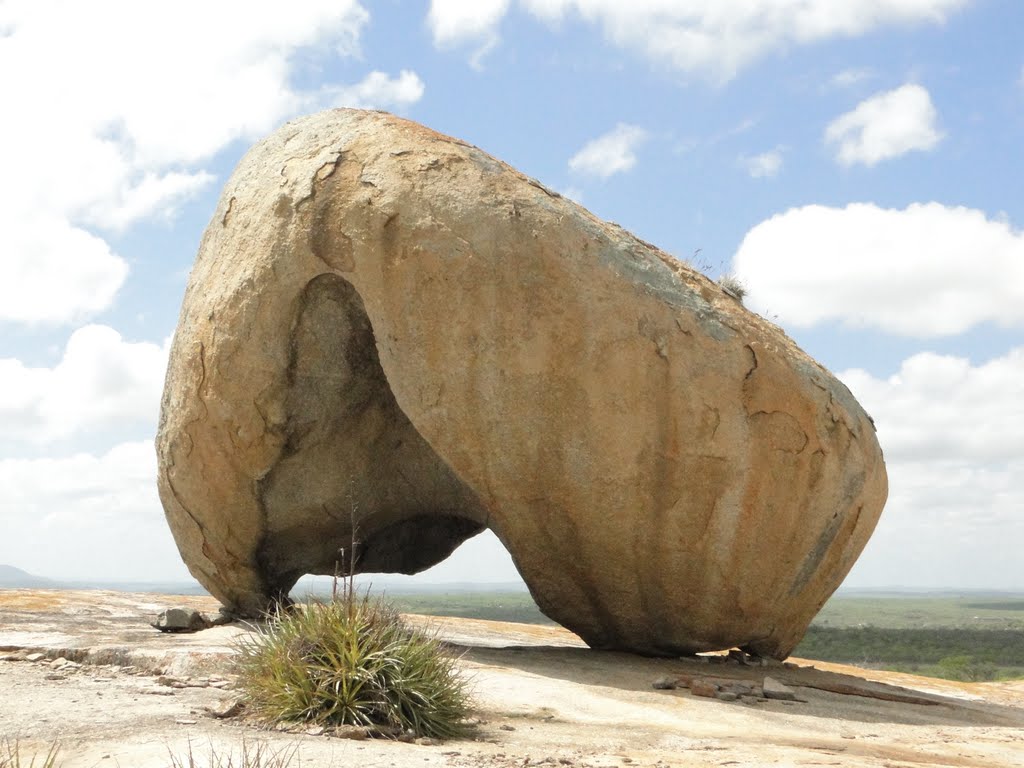
<instances>
[{"instance_id":1,"label":"large green spiky grass clump in front of the boulder","mask_svg":"<svg viewBox=\"0 0 1024 768\"><path fill-rule=\"evenodd\" d=\"M240 651L240 685L266 720L434 738L464 730L469 694L456 659L379 600L349 591L281 609Z\"/></svg>"}]
</instances>

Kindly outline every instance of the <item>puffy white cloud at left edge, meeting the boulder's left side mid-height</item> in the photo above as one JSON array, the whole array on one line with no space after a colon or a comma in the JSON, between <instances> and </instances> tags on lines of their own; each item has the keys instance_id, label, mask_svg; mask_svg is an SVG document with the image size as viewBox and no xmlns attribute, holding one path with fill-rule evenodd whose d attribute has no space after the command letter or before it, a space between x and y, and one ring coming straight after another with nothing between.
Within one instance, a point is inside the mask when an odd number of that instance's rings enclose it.
<instances>
[{"instance_id":1,"label":"puffy white cloud at left edge, meeting the boulder's left side mid-height","mask_svg":"<svg viewBox=\"0 0 1024 768\"><path fill-rule=\"evenodd\" d=\"M85 430L152 433L160 409L168 344L126 342L112 328L86 326L72 334L53 368L28 368L0 358L0 445L43 444Z\"/></svg>"}]
</instances>

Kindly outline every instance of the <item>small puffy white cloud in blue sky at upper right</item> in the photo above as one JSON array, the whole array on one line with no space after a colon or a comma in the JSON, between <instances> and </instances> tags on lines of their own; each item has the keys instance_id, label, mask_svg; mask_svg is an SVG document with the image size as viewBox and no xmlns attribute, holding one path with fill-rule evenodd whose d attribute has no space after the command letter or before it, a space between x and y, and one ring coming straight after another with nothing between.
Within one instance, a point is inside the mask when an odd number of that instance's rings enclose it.
<instances>
[{"instance_id":1,"label":"small puffy white cloud in blue sky at upper right","mask_svg":"<svg viewBox=\"0 0 1024 768\"><path fill-rule=\"evenodd\" d=\"M908 83L864 99L825 128L825 143L838 148L845 166L873 166L908 152L927 152L942 140L932 97Z\"/></svg>"}]
</instances>

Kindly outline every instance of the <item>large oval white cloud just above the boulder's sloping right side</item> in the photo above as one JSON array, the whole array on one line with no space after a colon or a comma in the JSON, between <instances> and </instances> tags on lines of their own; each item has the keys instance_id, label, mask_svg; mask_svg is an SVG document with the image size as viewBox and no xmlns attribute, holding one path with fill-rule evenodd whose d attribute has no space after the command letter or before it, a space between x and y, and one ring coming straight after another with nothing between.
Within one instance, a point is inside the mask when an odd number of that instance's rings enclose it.
<instances>
[{"instance_id":1,"label":"large oval white cloud just above the boulder's sloping right side","mask_svg":"<svg viewBox=\"0 0 1024 768\"><path fill-rule=\"evenodd\" d=\"M1024 327L1024 233L968 208L794 208L751 229L733 268L748 304L783 325L919 338Z\"/></svg>"}]
</instances>

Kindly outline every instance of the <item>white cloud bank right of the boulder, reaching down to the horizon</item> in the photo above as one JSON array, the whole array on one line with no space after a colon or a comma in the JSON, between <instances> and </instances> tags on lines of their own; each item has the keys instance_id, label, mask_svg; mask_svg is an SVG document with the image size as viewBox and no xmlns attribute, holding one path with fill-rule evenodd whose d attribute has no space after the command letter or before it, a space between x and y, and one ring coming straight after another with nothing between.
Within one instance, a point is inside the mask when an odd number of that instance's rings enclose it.
<instances>
[{"instance_id":1,"label":"white cloud bank right of the boulder, reaching down to the horizon","mask_svg":"<svg viewBox=\"0 0 1024 768\"><path fill-rule=\"evenodd\" d=\"M885 379L839 377L874 419L890 484L851 583L1024 586L1024 347L979 366L926 352Z\"/></svg>"}]
</instances>

